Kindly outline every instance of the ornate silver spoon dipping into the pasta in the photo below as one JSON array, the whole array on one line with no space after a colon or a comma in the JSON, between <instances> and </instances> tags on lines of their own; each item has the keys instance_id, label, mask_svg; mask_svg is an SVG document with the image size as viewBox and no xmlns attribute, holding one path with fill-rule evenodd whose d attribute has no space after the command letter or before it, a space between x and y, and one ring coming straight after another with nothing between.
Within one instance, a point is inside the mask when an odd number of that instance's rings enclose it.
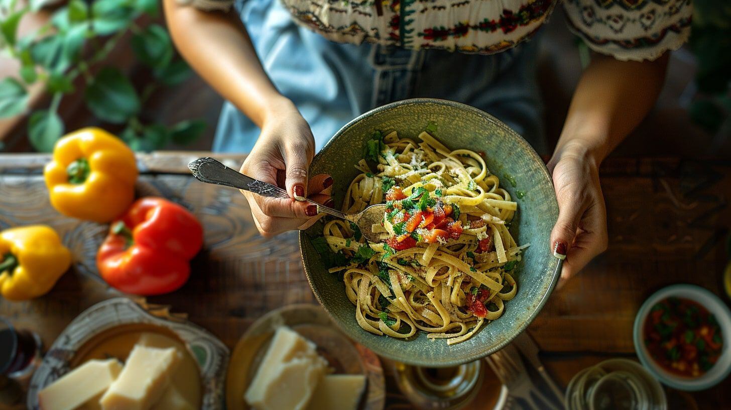
<instances>
[{"instance_id":1,"label":"ornate silver spoon dipping into the pasta","mask_svg":"<svg viewBox=\"0 0 731 410\"><path fill-rule=\"evenodd\" d=\"M193 176L197 180L207 182L208 184L226 185L227 187L246 190L270 198L289 198L287 191L280 187L241 174L239 171L229 168L211 157L198 158L192 163L189 163L188 168L190 168L190 171L192 171ZM366 239L371 242L380 242L378 234L373 233L372 227L374 223L381 223L383 220L386 204L371 205L357 214L347 215L337 209L318 204L310 199L306 199L305 201L309 204L317 205L317 213L323 212L327 215L333 215L333 217L339 217L355 223Z\"/></svg>"}]
</instances>

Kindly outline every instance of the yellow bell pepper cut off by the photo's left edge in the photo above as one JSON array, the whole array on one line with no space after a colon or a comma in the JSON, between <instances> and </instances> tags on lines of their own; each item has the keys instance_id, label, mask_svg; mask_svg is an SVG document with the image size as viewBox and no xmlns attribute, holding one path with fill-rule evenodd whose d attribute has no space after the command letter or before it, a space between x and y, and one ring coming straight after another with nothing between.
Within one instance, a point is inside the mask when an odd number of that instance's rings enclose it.
<instances>
[{"instance_id":1,"label":"yellow bell pepper cut off by the photo's left edge","mask_svg":"<svg viewBox=\"0 0 731 410\"><path fill-rule=\"evenodd\" d=\"M48 293L71 265L71 253L46 225L0 232L0 294L26 300Z\"/></svg>"}]
</instances>

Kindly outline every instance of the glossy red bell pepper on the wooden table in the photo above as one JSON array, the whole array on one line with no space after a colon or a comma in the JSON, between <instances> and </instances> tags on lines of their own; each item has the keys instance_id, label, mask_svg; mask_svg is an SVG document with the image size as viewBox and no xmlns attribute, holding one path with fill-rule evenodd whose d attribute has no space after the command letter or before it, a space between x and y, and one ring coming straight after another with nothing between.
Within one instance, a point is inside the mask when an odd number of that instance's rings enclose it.
<instances>
[{"instance_id":1,"label":"glossy red bell pepper on the wooden table","mask_svg":"<svg viewBox=\"0 0 731 410\"><path fill-rule=\"evenodd\" d=\"M163 198L141 198L112 223L96 266L120 291L166 294L186 283L202 245L203 228L191 212Z\"/></svg>"}]
</instances>

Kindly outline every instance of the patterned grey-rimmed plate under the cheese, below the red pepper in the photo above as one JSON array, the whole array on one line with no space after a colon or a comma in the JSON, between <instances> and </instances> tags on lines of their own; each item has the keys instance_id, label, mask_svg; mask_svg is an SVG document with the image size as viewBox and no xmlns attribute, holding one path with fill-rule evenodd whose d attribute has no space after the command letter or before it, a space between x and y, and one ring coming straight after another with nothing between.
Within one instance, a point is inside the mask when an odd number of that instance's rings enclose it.
<instances>
[{"instance_id":1,"label":"patterned grey-rimmed plate under the cheese, below the red pepper","mask_svg":"<svg viewBox=\"0 0 731 410\"><path fill-rule=\"evenodd\" d=\"M38 392L87 359L105 354L124 359L142 332L156 333L186 346L188 354L179 369L183 372L192 368L187 380L191 388L186 394L197 398L201 409L224 409L228 348L205 329L170 313L167 307L142 307L125 297L89 307L61 332L33 374L28 408L39 409Z\"/></svg>"}]
</instances>

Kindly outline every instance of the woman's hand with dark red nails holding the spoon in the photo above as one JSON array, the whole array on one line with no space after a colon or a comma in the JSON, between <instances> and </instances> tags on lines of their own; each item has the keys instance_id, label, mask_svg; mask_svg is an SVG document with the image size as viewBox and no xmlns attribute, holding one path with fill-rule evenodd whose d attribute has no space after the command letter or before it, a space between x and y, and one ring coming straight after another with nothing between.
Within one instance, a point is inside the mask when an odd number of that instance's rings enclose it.
<instances>
[{"instance_id":1,"label":"woman's hand with dark red nails holding the spoon","mask_svg":"<svg viewBox=\"0 0 731 410\"><path fill-rule=\"evenodd\" d=\"M304 202L310 198L320 204L330 199L329 175L308 180L307 170L314 156L315 142L309 125L289 100L268 108L254 149L241 166L252 178L283 187L288 199L265 198L241 191L251 206L251 214L262 236L270 237L292 229L306 229L317 218L317 206ZM331 206L331 205L330 205Z\"/></svg>"}]
</instances>

